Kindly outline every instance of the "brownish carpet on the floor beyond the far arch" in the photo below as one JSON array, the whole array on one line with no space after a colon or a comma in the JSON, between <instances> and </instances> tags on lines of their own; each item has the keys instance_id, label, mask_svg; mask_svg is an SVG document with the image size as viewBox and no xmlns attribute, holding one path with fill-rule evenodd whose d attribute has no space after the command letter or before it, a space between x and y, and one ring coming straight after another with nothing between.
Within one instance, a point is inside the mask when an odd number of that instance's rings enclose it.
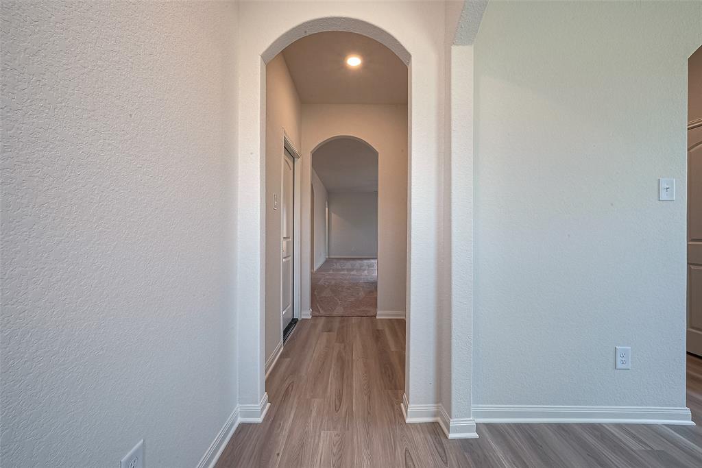
<instances>
[{"instance_id":1,"label":"brownish carpet on the floor beyond the far arch","mask_svg":"<svg viewBox=\"0 0 702 468\"><path fill-rule=\"evenodd\" d=\"M372 317L378 310L378 260L334 258L312 273L312 316Z\"/></svg>"}]
</instances>

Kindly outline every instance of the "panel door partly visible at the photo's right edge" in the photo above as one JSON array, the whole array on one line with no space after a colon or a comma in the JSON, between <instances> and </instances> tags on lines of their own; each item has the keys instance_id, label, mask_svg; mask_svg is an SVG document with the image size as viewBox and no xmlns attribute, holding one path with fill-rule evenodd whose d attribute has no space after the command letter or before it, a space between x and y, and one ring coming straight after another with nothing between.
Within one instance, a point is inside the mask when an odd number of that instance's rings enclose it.
<instances>
[{"instance_id":1,"label":"panel door partly visible at the photo's right edge","mask_svg":"<svg viewBox=\"0 0 702 468\"><path fill-rule=\"evenodd\" d=\"M687 351L702 356L702 126L687 148Z\"/></svg>"}]
</instances>

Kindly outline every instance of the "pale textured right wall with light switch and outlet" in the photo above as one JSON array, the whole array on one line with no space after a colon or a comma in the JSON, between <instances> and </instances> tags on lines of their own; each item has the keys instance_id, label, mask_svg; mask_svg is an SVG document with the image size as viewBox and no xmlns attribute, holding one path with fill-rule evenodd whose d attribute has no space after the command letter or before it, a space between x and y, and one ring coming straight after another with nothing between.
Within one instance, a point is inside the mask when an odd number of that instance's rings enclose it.
<instances>
[{"instance_id":1,"label":"pale textured right wall with light switch and outlet","mask_svg":"<svg viewBox=\"0 0 702 468\"><path fill-rule=\"evenodd\" d=\"M474 398L685 404L700 2L490 2L475 42ZM658 201L658 178L677 200ZM632 369L614 370L614 346Z\"/></svg>"}]
</instances>

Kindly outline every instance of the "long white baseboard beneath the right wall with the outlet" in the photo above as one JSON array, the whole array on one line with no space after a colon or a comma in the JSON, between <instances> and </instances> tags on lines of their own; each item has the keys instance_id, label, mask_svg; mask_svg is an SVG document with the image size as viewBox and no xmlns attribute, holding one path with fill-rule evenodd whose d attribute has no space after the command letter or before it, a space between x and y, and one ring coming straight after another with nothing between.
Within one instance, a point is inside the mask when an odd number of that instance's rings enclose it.
<instances>
[{"instance_id":1,"label":"long white baseboard beneath the right wall with the outlet","mask_svg":"<svg viewBox=\"0 0 702 468\"><path fill-rule=\"evenodd\" d=\"M658 406L539 406L474 405L478 423L519 424L561 422L564 424L684 424L694 426L688 408Z\"/></svg>"}]
</instances>

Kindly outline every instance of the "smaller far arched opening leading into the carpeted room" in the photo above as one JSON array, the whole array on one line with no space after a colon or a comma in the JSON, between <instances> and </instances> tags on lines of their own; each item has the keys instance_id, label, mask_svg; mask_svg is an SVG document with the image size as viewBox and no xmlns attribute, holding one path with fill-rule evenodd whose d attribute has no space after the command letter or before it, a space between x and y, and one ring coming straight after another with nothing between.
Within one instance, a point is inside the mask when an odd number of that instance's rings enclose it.
<instances>
[{"instance_id":1,"label":"smaller far arched opening leading into the carpeted room","mask_svg":"<svg viewBox=\"0 0 702 468\"><path fill-rule=\"evenodd\" d=\"M376 316L378 152L352 137L323 142L312 152L312 190L312 316Z\"/></svg>"}]
</instances>

